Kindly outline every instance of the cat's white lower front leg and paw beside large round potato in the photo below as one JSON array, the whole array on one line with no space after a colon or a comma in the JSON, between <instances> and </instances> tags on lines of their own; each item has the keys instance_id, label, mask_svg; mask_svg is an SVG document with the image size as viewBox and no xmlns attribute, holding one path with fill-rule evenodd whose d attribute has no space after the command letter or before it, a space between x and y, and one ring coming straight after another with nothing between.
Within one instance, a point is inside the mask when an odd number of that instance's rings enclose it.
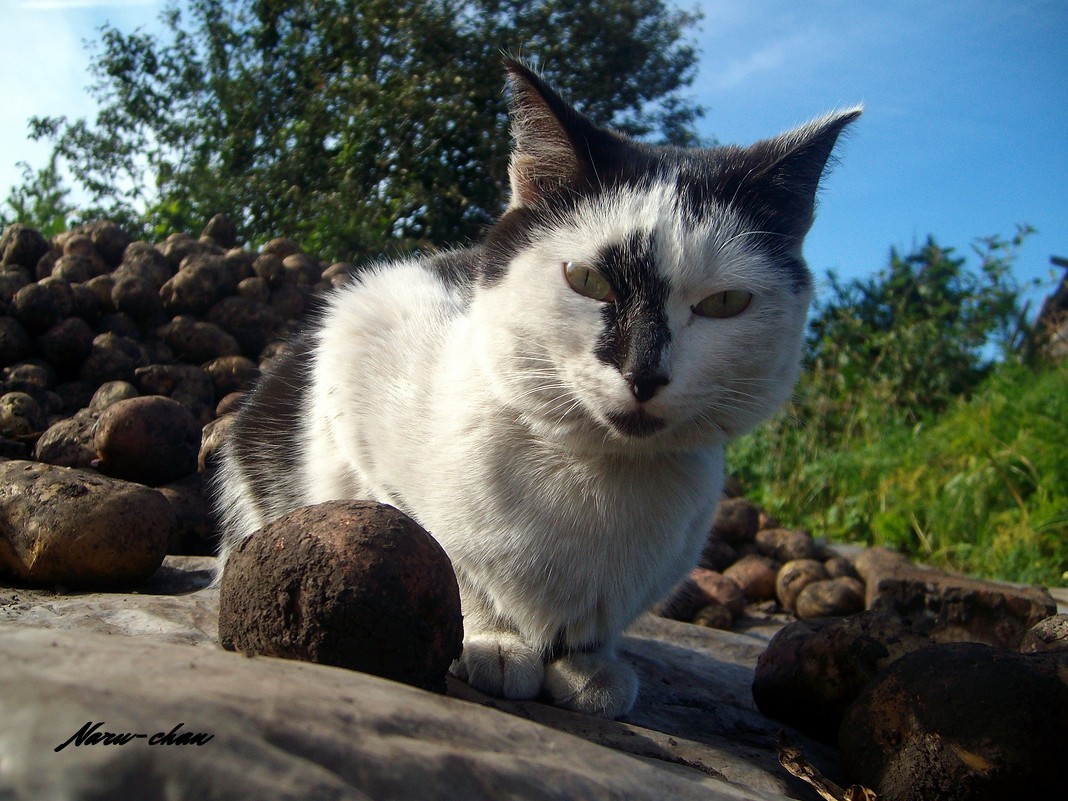
<instances>
[{"instance_id":1,"label":"cat's white lower front leg and paw beside large round potato","mask_svg":"<svg viewBox=\"0 0 1068 801\"><path fill-rule=\"evenodd\" d=\"M460 570L456 578L464 607L464 651L451 672L489 695L533 698L545 678L541 650L508 626Z\"/></svg>"}]
</instances>

